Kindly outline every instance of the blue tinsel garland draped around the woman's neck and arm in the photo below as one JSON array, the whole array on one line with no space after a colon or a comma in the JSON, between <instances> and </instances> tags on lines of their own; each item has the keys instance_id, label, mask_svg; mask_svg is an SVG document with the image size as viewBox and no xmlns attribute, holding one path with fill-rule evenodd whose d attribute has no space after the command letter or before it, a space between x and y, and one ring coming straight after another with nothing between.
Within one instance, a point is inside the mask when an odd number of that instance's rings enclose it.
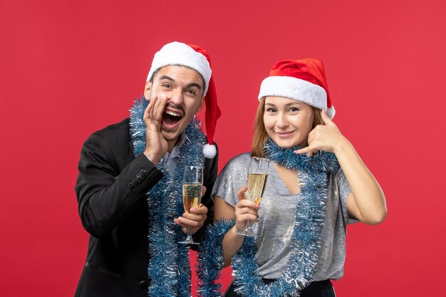
<instances>
[{"instance_id":1,"label":"blue tinsel garland draped around the woman's neck and arm","mask_svg":"<svg viewBox=\"0 0 446 297\"><path fill-rule=\"evenodd\" d=\"M299 148L284 149L271 139L267 140L264 146L266 157L278 165L299 172L301 192L296 207L294 239L291 241L291 253L286 270L276 281L269 284L265 284L255 273L259 268L255 256L257 251L255 239L251 237L244 239L239 252L232 257L234 284L241 296L299 296L299 291L313 280L325 219L327 175L328 172L336 172L339 163L336 156L330 152L319 152L313 157L296 155L294 150ZM217 222L207 230L205 240L209 240L210 243L203 244L198 258L198 267L201 270L199 276L202 277L199 283L200 296L221 296L219 292L221 286L216 280L222 268L222 257L216 255L222 253L223 236L232 225L229 222Z\"/></svg>"}]
</instances>

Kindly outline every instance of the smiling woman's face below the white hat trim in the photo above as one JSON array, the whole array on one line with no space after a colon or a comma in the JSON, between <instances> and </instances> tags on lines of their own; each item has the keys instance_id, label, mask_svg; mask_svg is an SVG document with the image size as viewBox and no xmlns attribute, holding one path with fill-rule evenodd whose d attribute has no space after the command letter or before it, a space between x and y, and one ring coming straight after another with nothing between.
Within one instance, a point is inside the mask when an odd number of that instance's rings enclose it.
<instances>
[{"instance_id":1,"label":"smiling woman's face below the white hat trim","mask_svg":"<svg viewBox=\"0 0 446 297\"><path fill-rule=\"evenodd\" d=\"M284 97L265 98L264 125L279 147L308 146L313 118L313 109L308 104Z\"/></svg>"}]
</instances>

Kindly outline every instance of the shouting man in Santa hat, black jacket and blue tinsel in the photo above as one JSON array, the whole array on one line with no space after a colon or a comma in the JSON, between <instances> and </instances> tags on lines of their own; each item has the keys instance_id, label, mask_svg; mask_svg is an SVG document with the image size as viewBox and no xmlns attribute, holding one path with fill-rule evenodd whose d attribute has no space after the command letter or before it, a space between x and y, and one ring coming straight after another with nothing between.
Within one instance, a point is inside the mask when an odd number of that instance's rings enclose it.
<instances>
[{"instance_id":1,"label":"shouting man in Santa hat, black jacket and blue tinsel","mask_svg":"<svg viewBox=\"0 0 446 297\"><path fill-rule=\"evenodd\" d=\"M167 43L130 118L85 141L76 194L90 241L75 296L190 296L188 249L177 241L212 221L220 111L209 62L202 48ZM204 102L207 140L194 120ZM204 166L207 192L183 214L188 165Z\"/></svg>"}]
</instances>

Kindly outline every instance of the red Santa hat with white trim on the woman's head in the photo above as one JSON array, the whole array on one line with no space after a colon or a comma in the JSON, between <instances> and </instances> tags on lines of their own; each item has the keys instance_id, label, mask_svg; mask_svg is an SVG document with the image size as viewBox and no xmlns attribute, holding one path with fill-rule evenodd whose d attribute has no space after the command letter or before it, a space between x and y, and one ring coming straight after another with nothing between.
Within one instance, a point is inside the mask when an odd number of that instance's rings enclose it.
<instances>
[{"instance_id":1,"label":"red Santa hat with white trim on the woman's head","mask_svg":"<svg viewBox=\"0 0 446 297\"><path fill-rule=\"evenodd\" d=\"M266 96L279 96L301 101L326 110L328 117L335 115L321 60L306 58L276 63L269 77L261 82L259 100Z\"/></svg>"}]
</instances>

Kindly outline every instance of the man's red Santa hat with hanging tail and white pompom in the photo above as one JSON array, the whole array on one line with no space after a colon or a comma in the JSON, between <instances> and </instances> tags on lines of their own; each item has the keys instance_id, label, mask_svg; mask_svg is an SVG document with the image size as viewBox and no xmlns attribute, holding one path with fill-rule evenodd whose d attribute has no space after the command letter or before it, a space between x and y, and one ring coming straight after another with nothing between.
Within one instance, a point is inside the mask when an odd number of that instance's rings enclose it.
<instances>
[{"instance_id":1,"label":"man's red Santa hat with hanging tail and white pompom","mask_svg":"<svg viewBox=\"0 0 446 297\"><path fill-rule=\"evenodd\" d=\"M214 79L212 78L211 58L203 48L195 45L187 45L181 42L171 42L163 46L155 53L150 67L147 81L152 79L155 72L165 66L186 66L202 75L204 80L204 103L206 104L206 135L208 144L203 147L204 157L213 158L217 154L216 147L212 144L217 119L222 115L217 105L217 93L215 93Z\"/></svg>"}]
</instances>

